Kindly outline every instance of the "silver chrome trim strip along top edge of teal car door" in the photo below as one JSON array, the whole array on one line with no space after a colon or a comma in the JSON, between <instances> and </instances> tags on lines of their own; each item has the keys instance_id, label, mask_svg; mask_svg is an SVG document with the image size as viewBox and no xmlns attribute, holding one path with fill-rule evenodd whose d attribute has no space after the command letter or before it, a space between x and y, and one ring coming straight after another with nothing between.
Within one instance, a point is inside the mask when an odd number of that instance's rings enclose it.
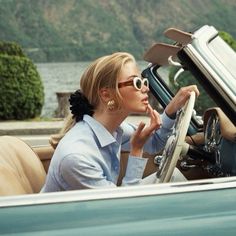
<instances>
[{"instance_id":1,"label":"silver chrome trim strip along top edge of teal car door","mask_svg":"<svg viewBox=\"0 0 236 236\"><path fill-rule=\"evenodd\" d=\"M236 188L236 177L188 181L179 183L152 184L132 187L75 190L42 194L0 197L0 208L81 201L95 201L116 198L158 196L165 194L211 191Z\"/></svg>"}]
</instances>

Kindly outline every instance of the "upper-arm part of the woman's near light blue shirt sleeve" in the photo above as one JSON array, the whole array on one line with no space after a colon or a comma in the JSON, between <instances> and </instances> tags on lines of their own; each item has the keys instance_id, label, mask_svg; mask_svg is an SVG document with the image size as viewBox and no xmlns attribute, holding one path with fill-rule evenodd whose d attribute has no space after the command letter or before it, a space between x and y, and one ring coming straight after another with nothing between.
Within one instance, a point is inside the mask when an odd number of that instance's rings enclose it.
<instances>
[{"instance_id":1,"label":"upper-arm part of the woman's near light blue shirt sleeve","mask_svg":"<svg viewBox=\"0 0 236 236\"><path fill-rule=\"evenodd\" d=\"M64 158L59 172L69 190L116 187L112 181L106 179L99 166L89 162L87 158L78 158L76 155Z\"/></svg>"}]
</instances>

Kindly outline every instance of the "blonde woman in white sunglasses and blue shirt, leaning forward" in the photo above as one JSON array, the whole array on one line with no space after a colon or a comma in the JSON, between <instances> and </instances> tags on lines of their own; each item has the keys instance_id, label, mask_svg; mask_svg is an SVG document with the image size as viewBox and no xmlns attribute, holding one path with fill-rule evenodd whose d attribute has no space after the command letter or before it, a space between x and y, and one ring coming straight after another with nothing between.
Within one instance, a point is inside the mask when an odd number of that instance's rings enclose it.
<instances>
[{"instance_id":1,"label":"blonde woman in white sunglasses and blue shirt, leaning forward","mask_svg":"<svg viewBox=\"0 0 236 236\"><path fill-rule=\"evenodd\" d=\"M115 187L121 150L130 151L122 185L141 184L147 162L143 151L163 148L172 118L191 91L199 93L196 86L180 89L160 117L148 103L148 80L141 79L132 55L118 52L97 59L70 98L72 116L60 142L54 140L57 147L41 192ZM147 113L150 123L123 122L133 112Z\"/></svg>"}]
</instances>

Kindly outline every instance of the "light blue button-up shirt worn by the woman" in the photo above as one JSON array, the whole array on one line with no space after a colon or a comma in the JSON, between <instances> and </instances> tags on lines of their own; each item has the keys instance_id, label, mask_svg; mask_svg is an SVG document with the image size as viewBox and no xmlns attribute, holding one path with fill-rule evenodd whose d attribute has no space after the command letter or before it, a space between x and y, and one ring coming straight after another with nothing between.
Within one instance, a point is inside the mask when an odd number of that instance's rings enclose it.
<instances>
[{"instance_id":1,"label":"light blue button-up shirt worn by the woman","mask_svg":"<svg viewBox=\"0 0 236 236\"><path fill-rule=\"evenodd\" d=\"M163 148L173 122L162 114L162 128L149 138L145 152L157 153ZM84 115L59 142L41 192L116 187L120 153L130 150L135 129L136 126L123 122L112 135L101 123ZM140 184L146 163L146 158L129 155L122 185Z\"/></svg>"}]
</instances>

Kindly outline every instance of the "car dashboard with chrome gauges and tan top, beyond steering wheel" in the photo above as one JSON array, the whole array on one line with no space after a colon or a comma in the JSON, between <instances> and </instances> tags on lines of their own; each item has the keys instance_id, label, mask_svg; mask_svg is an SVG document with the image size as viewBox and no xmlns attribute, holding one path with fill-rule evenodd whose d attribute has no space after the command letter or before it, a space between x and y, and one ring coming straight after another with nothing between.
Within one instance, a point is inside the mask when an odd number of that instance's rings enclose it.
<instances>
[{"instance_id":1,"label":"car dashboard with chrome gauges and tan top, beyond steering wheel","mask_svg":"<svg viewBox=\"0 0 236 236\"><path fill-rule=\"evenodd\" d=\"M218 107L208 109L203 122L203 132L188 137L180 170L188 179L236 176L236 127Z\"/></svg>"}]
</instances>

